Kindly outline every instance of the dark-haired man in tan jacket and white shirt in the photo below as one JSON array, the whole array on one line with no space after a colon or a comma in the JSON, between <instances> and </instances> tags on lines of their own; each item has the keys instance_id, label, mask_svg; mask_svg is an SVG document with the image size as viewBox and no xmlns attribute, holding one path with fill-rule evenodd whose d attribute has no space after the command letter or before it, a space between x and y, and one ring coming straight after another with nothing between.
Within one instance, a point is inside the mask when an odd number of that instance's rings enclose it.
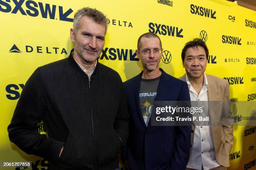
<instances>
[{"instance_id":1,"label":"dark-haired man in tan jacket and white shirt","mask_svg":"<svg viewBox=\"0 0 256 170\"><path fill-rule=\"evenodd\" d=\"M205 42L194 39L182 50L182 65L186 70L179 79L187 82L191 101L207 101L211 122L218 121L223 110L231 117L229 84L226 80L205 74L209 52ZM224 101L224 102L209 102ZM218 103L218 107L216 106ZM223 119L222 119L223 120ZM229 124L201 126L192 124L190 156L186 170L226 170L230 166L229 152L233 145L233 120Z\"/></svg>"}]
</instances>

